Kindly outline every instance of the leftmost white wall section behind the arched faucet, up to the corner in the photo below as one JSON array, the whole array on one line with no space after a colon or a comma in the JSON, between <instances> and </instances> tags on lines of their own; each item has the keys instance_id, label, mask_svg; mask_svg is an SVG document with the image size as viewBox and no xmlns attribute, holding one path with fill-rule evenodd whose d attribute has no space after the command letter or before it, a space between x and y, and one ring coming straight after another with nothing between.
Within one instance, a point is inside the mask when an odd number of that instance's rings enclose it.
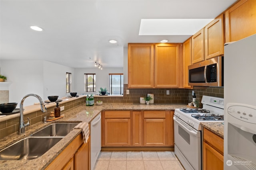
<instances>
[{"instance_id":1,"label":"leftmost white wall section behind the arched faucet, up to the corner","mask_svg":"<svg viewBox=\"0 0 256 170\"><path fill-rule=\"evenodd\" d=\"M0 63L1 74L7 77L9 86L9 102L17 102L17 108L23 96L34 93L43 96L43 61L4 60ZM24 106L38 102L35 97L28 97Z\"/></svg>"}]
</instances>

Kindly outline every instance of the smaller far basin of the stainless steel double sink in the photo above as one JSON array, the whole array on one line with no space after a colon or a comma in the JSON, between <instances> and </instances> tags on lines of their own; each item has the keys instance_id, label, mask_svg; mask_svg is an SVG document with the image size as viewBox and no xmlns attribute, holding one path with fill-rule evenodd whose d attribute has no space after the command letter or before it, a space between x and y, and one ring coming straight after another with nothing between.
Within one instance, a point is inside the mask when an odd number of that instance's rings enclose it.
<instances>
[{"instance_id":1,"label":"smaller far basin of the stainless steel double sink","mask_svg":"<svg viewBox=\"0 0 256 170\"><path fill-rule=\"evenodd\" d=\"M44 129L33 133L31 136L66 136L78 123L54 123Z\"/></svg>"}]
</instances>

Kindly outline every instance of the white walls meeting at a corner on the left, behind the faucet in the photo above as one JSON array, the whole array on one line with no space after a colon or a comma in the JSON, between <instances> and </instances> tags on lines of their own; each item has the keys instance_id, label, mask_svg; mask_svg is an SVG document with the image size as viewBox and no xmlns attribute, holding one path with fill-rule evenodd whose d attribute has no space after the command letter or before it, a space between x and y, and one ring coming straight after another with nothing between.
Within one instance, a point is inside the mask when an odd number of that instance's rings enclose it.
<instances>
[{"instance_id":1,"label":"white walls meeting at a corner on the left, behind the faucet","mask_svg":"<svg viewBox=\"0 0 256 170\"><path fill-rule=\"evenodd\" d=\"M7 77L8 82L12 82L9 86L9 102L17 102L17 108L26 94L38 94L43 100L48 100L47 96L67 96L66 72L75 74L74 68L48 61L2 60L0 67L1 74ZM38 102L35 97L28 97L24 106Z\"/></svg>"}]
</instances>

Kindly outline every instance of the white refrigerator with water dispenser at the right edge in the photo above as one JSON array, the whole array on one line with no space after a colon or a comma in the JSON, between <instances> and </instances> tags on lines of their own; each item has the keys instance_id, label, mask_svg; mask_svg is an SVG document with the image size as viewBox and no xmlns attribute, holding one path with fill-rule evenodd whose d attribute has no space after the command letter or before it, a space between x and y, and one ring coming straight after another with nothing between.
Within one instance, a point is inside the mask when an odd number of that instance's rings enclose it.
<instances>
[{"instance_id":1,"label":"white refrigerator with water dispenser at the right edge","mask_svg":"<svg viewBox=\"0 0 256 170\"><path fill-rule=\"evenodd\" d=\"M224 170L256 170L256 34L224 46Z\"/></svg>"}]
</instances>

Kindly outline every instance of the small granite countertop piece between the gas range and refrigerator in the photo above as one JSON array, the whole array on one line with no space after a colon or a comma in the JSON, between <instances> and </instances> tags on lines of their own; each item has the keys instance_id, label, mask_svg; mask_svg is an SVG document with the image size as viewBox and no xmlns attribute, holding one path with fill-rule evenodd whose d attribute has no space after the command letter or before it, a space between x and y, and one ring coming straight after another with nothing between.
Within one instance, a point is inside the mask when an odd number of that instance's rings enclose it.
<instances>
[{"instance_id":1,"label":"small granite countertop piece between the gas range and refrigerator","mask_svg":"<svg viewBox=\"0 0 256 170\"><path fill-rule=\"evenodd\" d=\"M224 139L224 124L222 122L202 122L201 125Z\"/></svg>"}]
</instances>

